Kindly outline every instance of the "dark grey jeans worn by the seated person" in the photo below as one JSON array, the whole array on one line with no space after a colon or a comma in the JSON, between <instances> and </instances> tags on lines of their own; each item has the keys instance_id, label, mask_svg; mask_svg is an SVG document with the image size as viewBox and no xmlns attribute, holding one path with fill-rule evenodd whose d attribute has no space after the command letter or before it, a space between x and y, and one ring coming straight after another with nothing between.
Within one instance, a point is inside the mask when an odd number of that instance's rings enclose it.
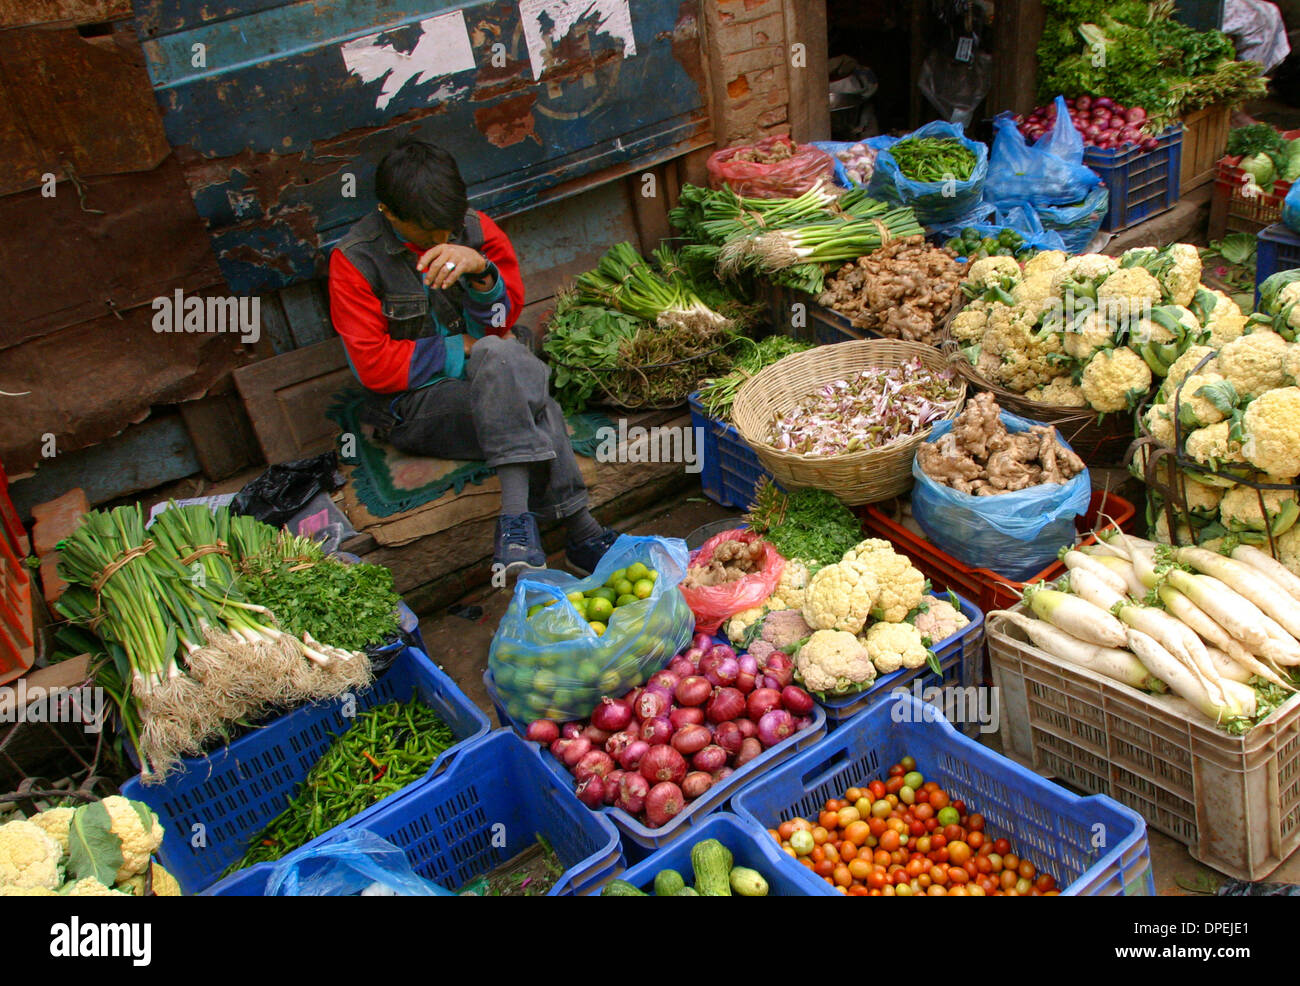
<instances>
[{"instance_id":1,"label":"dark grey jeans worn by the seated person","mask_svg":"<svg viewBox=\"0 0 1300 986\"><path fill-rule=\"evenodd\" d=\"M529 510L562 520L588 505L564 412L550 395L550 368L514 338L485 336L464 380L403 394L389 442L412 455L529 464Z\"/></svg>"}]
</instances>

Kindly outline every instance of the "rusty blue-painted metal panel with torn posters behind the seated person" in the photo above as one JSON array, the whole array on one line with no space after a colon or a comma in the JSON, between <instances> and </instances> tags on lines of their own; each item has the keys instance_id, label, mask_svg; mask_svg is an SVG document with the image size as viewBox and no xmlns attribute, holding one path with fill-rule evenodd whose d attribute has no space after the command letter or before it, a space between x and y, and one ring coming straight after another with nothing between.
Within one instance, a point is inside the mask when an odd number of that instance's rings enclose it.
<instances>
[{"instance_id":1,"label":"rusty blue-painted metal panel with torn posters behind the seated person","mask_svg":"<svg viewBox=\"0 0 1300 986\"><path fill-rule=\"evenodd\" d=\"M252 291L320 273L404 134L495 216L706 144L698 3L136 0L136 26L222 273Z\"/></svg>"}]
</instances>

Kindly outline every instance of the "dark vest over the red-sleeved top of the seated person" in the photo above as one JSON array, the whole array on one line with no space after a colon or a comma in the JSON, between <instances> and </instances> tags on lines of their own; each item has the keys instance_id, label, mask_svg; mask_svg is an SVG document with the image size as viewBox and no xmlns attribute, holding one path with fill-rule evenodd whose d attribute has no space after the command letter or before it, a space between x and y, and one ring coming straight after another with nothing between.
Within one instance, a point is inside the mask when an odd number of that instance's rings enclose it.
<instances>
[{"instance_id":1,"label":"dark vest over the red-sleeved top of the seated person","mask_svg":"<svg viewBox=\"0 0 1300 986\"><path fill-rule=\"evenodd\" d=\"M465 213L464 232L452 237L451 242L482 251L482 222L474 209ZM415 269L419 255L407 248L378 212L352 226L334 248L342 250L343 256L369 282L384 307L393 338L437 336L439 323L450 336L465 330L462 313L465 290L460 281L442 290L425 287L422 274Z\"/></svg>"}]
</instances>

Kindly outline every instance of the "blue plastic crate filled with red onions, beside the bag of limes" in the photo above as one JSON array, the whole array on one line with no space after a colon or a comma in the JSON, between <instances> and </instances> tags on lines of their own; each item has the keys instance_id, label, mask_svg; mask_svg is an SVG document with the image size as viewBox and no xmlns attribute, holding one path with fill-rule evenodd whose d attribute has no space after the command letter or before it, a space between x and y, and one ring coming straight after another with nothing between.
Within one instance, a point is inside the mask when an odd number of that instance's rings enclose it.
<instances>
[{"instance_id":1,"label":"blue plastic crate filled with red onions, beside the bag of limes","mask_svg":"<svg viewBox=\"0 0 1300 986\"><path fill-rule=\"evenodd\" d=\"M516 722L507 715L506 708L497 695L497 686L491 679L491 671L484 671L484 686L488 688L488 695L491 699L491 704L497 709L497 718L500 721L502 726L512 726L516 732L523 735L528 728L528 723ZM659 849L675 839L680 839L686 833L693 831L694 826L699 825L705 816L727 804L732 795L751 783L754 778L759 777L764 770L789 760L800 751L807 749L822 739L826 735L826 712L820 706L815 706L812 709L811 718L812 725L807 728L800 730L785 741L764 749L759 756L754 757L749 761L749 764L736 770L725 780L714 784L703 793L703 796L697 797L694 801L688 804L676 818L662 829L651 829L642 825L620 808L602 808L601 813L608 816L610 821L612 821L614 825L618 826L619 831L623 833L623 838L629 843L628 848L633 855L640 855L633 849L633 847L640 847L641 849ZM577 788L577 782L573 779L573 775L569 774L568 769L563 764L550 754L550 751L537 745L533 745L533 748L542 758L542 762L546 764L550 771L555 774L556 779L560 780L564 787L569 791L575 791ZM573 796L573 801L575 804L581 804L576 795Z\"/></svg>"}]
</instances>

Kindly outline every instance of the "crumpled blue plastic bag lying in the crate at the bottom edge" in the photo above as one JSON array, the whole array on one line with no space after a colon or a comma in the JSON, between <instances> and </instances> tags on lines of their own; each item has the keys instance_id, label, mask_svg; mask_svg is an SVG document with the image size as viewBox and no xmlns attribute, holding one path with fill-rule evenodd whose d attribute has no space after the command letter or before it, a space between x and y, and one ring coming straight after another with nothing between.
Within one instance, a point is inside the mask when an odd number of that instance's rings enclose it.
<instances>
[{"instance_id":1,"label":"crumpled blue plastic bag lying in the crate at the bottom edge","mask_svg":"<svg viewBox=\"0 0 1300 986\"><path fill-rule=\"evenodd\" d=\"M361 891L369 891L367 896L455 896L411 869L400 848L365 829L344 829L289 853L272 869L263 896L343 898Z\"/></svg>"}]
</instances>

